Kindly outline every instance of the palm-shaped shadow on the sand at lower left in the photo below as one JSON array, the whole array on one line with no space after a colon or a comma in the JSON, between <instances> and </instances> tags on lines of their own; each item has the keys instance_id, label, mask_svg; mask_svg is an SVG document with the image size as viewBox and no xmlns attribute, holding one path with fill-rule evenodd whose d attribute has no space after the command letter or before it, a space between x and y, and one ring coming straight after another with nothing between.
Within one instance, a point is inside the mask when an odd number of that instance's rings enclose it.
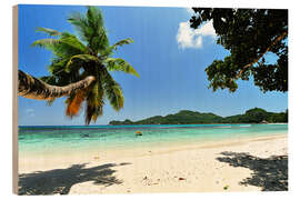
<instances>
[{"instance_id":1,"label":"palm-shaped shadow on the sand at lower left","mask_svg":"<svg viewBox=\"0 0 300 200\"><path fill-rule=\"evenodd\" d=\"M67 194L77 183L93 181L94 184L109 187L120 184L116 179L112 167L130 163L108 163L92 168L86 168L87 163L73 164L67 169L53 169L33 173L19 174L19 194Z\"/></svg>"}]
</instances>

